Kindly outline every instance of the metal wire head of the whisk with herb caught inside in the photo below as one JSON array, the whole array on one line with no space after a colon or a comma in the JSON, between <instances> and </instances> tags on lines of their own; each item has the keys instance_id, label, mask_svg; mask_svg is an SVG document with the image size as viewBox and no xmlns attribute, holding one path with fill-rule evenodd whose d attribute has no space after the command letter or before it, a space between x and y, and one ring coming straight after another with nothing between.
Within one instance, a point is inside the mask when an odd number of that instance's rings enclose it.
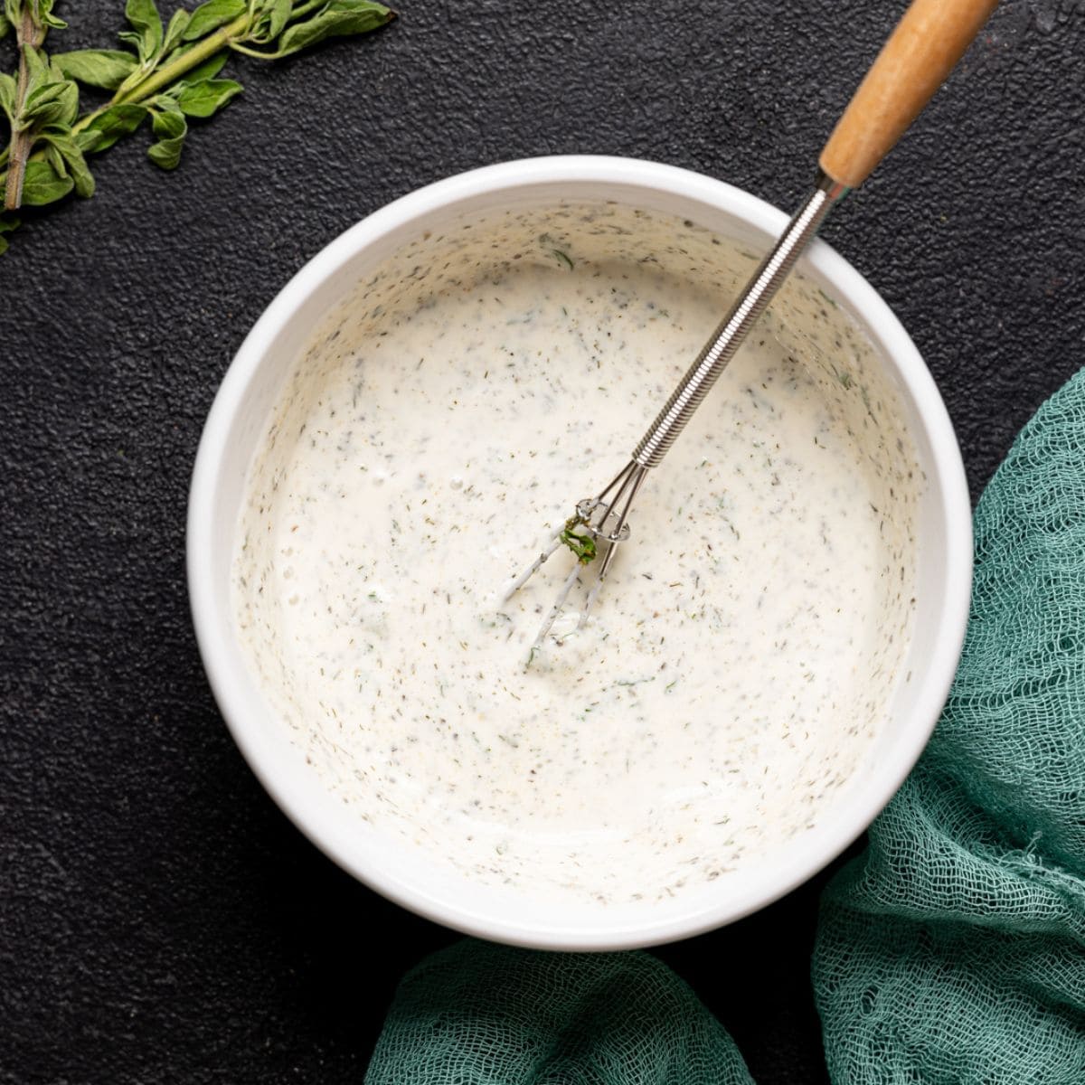
<instances>
[{"instance_id":1,"label":"metal wire head of the whisk with herb caught inside","mask_svg":"<svg viewBox=\"0 0 1085 1085\"><path fill-rule=\"evenodd\" d=\"M602 554L601 563L598 565L599 571L595 583L584 600L576 628L579 629L588 620L591 604L602 589L603 580L607 579L607 574L614 561L617 545L629 537L629 510L633 508L633 500L647 473L648 468L642 467L636 460L630 460L598 497L586 497L578 501L575 514L565 521L564 526L554 535L549 546L516 577L512 587L509 588L505 596L506 599L519 591L547 559L562 546L567 547L576 557L575 564L570 570L569 576L565 577L565 583L561 586L561 590L532 644L533 654L542 647L547 635L553 628L553 623L565 605L582 567L599 560L600 545L603 544L607 548L605 553Z\"/></svg>"}]
</instances>

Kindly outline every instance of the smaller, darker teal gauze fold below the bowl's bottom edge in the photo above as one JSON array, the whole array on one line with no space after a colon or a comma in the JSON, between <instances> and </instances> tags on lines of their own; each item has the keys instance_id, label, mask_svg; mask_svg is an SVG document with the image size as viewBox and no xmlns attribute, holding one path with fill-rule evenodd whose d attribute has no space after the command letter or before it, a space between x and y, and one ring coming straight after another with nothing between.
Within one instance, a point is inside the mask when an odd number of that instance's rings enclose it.
<instances>
[{"instance_id":1,"label":"smaller, darker teal gauze fold below the bowl's bottom edge","mask_svg":"<svg viewBox=\"0 0 1085 1085\"><path fill-rule=\"evenodd\" d=\"M753 1085L719 1022L646 953L467 940L399 985L366 1085Z\"/></svg>"}]
</instances>

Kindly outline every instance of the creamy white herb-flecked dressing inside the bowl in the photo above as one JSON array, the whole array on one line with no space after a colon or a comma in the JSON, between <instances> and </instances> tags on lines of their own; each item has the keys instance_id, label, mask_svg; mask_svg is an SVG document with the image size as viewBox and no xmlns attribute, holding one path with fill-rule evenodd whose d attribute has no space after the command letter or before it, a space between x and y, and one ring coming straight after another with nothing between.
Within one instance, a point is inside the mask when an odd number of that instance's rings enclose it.
<instances>
[{"instance_id":1,"label":"creamy white herb-flecked dressing inside the bowl","mask_svg":"<svg viewBox=\"0 0 1085 1085\"><path fill-rule=\"evenodd\" d=\"M649 476L589 626L526 665L570 553L501 600L751 260L616 205L494 215L406 246L318 331L250 474L234 611L359 818L477 880L652 901L756 863L856 771L907 648L918 472L808 282Z\"/></svg>"}]
</instances>

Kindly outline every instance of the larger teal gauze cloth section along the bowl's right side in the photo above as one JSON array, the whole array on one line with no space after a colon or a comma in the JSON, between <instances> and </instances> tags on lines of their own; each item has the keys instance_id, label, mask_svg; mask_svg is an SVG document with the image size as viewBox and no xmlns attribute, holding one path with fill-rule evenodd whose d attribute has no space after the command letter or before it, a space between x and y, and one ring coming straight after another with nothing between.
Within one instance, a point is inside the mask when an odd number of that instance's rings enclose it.
<instances>
[{"instance_id":1,"label":"larger teal gauze cloth section along the bowl's right side","mask_svg":"<svg viewBox=\"0 0 1085 1085\"><path fill-rule=\"evenodd\" d=\"M1085 1085L1085 375L975 513L965 653L927 752L822 897L837 1085Z\"/></svg>"}]
</instances>

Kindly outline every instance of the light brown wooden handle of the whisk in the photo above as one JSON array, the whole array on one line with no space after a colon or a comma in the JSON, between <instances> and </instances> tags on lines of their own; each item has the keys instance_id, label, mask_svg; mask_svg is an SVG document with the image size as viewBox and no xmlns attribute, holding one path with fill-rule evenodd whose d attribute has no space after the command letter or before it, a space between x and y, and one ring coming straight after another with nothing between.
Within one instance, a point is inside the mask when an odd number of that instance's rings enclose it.
<instances>
[{"instance_id":1,"label":"light brown wooden handle of the whisk","mask_svg":"<svg viewBox=\"0 0 1085 1085\"><path fill-rule=\"evenodd\" d=\"M821 152L820 166L854 189L892 150L980 33L998 0L914 0Z\"/></svg>"}]
</instances>

